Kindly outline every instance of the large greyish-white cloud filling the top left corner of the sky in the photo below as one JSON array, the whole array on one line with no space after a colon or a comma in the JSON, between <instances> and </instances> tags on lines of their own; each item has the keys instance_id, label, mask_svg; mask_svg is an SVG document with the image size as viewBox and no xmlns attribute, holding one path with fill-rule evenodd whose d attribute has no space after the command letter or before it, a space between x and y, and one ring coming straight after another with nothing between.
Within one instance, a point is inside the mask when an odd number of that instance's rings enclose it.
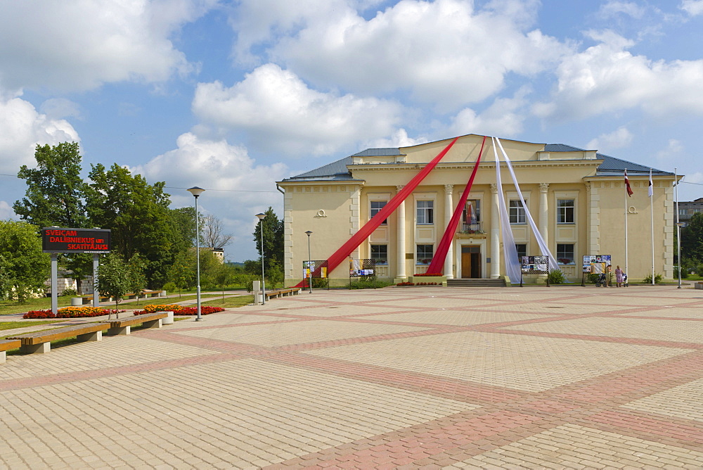
<instances>
[{"instance_id":1,"label":"large greyish-white cloud filling the top left corner of the sky","mask_svg":"<svg viewBox=\"0 0 703 470\"><path fill-rule=\"evenodd\" d=\"M191 65L169 40L217 0L0 0L0 83L85 90Z\"/></svg>"}]
</instances>

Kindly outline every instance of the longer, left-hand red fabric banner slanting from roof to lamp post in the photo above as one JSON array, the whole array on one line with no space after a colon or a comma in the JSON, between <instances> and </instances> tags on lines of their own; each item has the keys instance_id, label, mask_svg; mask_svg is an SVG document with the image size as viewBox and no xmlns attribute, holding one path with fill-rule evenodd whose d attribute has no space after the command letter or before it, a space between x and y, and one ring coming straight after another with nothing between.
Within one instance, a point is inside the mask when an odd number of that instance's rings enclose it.
<instances>
[{"instance_id":1,"label":"longer, left-hand red fabric banner slanting from roof to lamp post","mask_svg":"<svg viewBox=\"0 0 703 470\"><path fill-rule=\"evenodd\" d=\"M415 191L415 188L418 187L418 185L423 182L423 179L427 177L427 174L430 174L432 170L434 170L434 167L437 166L437 163L439 163L439 160L444 158L444 155L446 155L447 152L449 152L449 149L454 145L454 143L458 140L459 138L456 137L453 141L449 143L448 146L444 148L443 151L439 152L436 157L432 159L430 163L427 163L425 167L420 170L418 174L415 174L413 179L408 182L404 186L403 189L398 191L398 193L391 198L388 203L383 206L381 210L378 211L376 215L371 217L371 219L366 222L366 224L359 229L359 231L356 232L356 234L352 235L352 238L347 241L347 243L344 243L335 253L330 256L330 258L327 260L328 261L328 276L332 274L332 272L335 270L337 266L339 266L342 261L346 260L349 255L352 254L352 251L356 250L356 248L363 243L364 240L368 239L368 236L373 233L375 229L378 229L378 226L386 220L389 215L393 213L394 210L398 208L398 206L410 196L413 191ZM304 280L300 281L295 287L302 287L304 284Z\"/></svg>"}]
</instances>

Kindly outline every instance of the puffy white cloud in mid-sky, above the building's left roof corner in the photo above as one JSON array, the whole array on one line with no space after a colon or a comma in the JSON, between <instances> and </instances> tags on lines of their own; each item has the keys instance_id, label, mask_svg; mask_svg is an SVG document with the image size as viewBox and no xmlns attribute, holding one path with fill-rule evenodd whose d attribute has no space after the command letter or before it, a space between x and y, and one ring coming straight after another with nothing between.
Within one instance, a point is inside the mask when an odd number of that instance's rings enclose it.
<instances>
[{"instance_id":1,"label":"puffy white cloud in mid-sky, above the building's left roof corner","mask_svg":"<svg viewBox=\"0 0 703 470\"><path fill-rule=\"evenodd\" d=\"M245 130L252 148L287 155L333 153L359 136L387 136L401 115L391 101L315 91L273 64L230 88L198 84L193 111L206 124Z\"/></svg>"}]
</instances>

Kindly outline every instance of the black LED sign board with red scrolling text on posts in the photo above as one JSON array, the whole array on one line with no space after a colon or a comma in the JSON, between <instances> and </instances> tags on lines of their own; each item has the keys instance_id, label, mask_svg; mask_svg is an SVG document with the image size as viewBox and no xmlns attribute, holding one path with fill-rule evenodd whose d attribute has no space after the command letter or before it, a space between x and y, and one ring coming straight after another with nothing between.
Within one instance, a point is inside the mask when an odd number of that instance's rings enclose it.
<instances>
[{"instance_id":1,"label":"black LED sign board with red scrolling text on posts","mask_svg":"<svg viewBox=\"0 0 703 470\"><path fill-rule=\"evenodd\" d=\"M44 253L110 253L110 230L44 227L41 250Z\"/></svg>"}]
</instances>

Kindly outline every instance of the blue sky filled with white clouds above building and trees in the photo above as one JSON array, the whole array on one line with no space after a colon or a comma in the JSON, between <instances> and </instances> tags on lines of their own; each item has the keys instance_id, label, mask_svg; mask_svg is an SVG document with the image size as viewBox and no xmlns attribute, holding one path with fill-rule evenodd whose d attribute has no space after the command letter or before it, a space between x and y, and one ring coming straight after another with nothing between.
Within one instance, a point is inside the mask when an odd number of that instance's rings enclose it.
<instances>
[{"instance_id":1,"label":"blue sky filled with white clouds above building and trees","mask_svg":"<svg viewBox=\"0 0 703 470\"><path fill-rule=\"evenodd\" d=\"M0 0L0 218L36 144L165 181L256 256L276 180L463 134L569 144L703 196L703 0Z\"/></svg>"}]
</instances>

